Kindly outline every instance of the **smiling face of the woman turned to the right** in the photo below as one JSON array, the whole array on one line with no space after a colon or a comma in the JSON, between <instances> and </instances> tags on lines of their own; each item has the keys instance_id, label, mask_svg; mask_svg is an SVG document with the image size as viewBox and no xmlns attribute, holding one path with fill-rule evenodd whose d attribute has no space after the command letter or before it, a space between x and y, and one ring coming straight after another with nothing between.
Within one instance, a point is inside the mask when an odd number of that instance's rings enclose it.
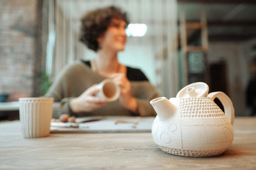
<instances>
[{"instance_id":1,"label":"smiling face of the woman turned to the right","mask_svg":"<svg viewBox=\"0 0 256 170\"><path fill-rule=\"evenodd\" d=\"M98 38L100 49L113 50L114 52L124 50L127 40L126 26L125 21L113 19L104 35Z\"/></svg>"}]
</instances>

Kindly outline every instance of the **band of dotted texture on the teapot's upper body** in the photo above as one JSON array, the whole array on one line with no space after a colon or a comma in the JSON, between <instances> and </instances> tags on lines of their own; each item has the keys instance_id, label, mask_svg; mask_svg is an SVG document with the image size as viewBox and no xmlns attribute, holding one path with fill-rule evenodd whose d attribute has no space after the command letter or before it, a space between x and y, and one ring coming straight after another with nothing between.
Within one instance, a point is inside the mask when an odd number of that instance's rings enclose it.
<instances>
[{"instance_id":1,"label":"band of dotted texture on the teapot's upper body","mask_svg":"<svg viewBox=\"0 0 256 170\"><path fill-rule=\"evenodd\" d=\"M181 118L218 118L225 113L210 98L180 98Z\"/></svg>"}]
</instances>

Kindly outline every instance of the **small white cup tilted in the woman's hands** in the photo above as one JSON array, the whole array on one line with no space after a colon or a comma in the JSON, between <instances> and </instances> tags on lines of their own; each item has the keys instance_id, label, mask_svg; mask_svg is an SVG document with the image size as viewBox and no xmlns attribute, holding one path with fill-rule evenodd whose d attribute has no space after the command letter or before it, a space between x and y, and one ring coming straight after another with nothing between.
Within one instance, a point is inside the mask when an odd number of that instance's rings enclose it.
<instances>
[{"instance_id":1,"label":"small white cup tilted in the woman's hands","mask_svg":"<svg viewBox=\"0 0 256 170\"><path fill-rule=\"evenodd\" d=\"M106 101L115 101L119 98L120 89L117 84L114 84L112 79L105 79L100 84L98 84L100 91L96 96L100 98L105 98Z\"/></svg>"}]
</instances>

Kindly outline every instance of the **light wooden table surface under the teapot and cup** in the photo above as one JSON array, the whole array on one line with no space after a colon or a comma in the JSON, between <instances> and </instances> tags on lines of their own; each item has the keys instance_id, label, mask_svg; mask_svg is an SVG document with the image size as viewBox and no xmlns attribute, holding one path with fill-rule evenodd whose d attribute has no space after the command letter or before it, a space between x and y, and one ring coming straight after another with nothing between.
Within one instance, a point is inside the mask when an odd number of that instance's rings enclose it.
<instances>
[{"instance_id":1,"label":"light wooden table surface under the teapot and cup","mask_svg":"<svg viewBox=\"0 0 256 170\"><path fill-rule=\"evenodd\" d=\"M256 118L235 118L233 145L218 157L162 152L150 132L53 133L24 139L0 123L0 169L256 169Z\"/></svg>"}]
</instances>

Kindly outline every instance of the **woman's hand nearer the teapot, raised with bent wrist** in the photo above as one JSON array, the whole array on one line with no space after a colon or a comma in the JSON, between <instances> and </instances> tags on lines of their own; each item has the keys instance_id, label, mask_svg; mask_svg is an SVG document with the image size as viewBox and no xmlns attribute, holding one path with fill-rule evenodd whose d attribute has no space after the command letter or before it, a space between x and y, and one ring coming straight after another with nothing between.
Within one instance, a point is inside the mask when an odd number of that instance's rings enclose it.
<instances>
[{"instance_id":1,"label":"woman's hand nearer the teapot, raised with bent wrist","mask_svg":"<svg viewBox=\"0 0 256 170\"><path fill-rule=\"evenodd\" d=\"M121 105L124 106L124 108L127 108L130 111L137 113L138 103L135 98L131 96L131 84L125 74L112 74L110 78L112 78L114 83L117 84L120 88L119 101Z\"/></svg>"}]
</instances>

